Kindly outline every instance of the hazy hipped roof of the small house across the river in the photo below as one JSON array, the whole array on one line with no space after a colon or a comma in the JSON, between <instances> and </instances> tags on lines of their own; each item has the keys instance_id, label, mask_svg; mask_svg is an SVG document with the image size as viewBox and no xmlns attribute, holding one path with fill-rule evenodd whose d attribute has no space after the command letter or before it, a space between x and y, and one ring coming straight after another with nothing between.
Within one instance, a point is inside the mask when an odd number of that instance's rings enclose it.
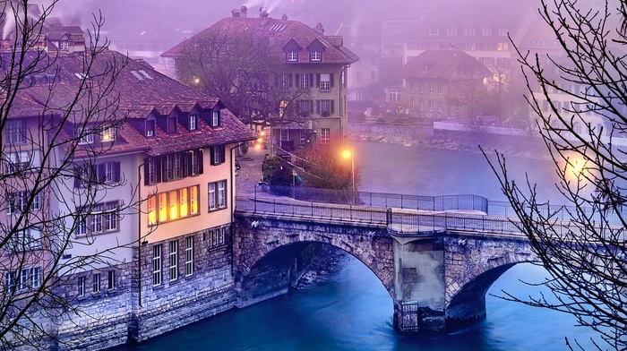
<instances>
[{"instance_id":1,"label":"hazy hipped roof of the small house across the river","mask_svg":"<svg viewBox=\"0 0 627 351\"><path fill-rule=\"evenodd\" d=\"M460 50L427 50L413 57L400 71L403 78L484 78L490 70Z\"/></svg>"}]
</instances>

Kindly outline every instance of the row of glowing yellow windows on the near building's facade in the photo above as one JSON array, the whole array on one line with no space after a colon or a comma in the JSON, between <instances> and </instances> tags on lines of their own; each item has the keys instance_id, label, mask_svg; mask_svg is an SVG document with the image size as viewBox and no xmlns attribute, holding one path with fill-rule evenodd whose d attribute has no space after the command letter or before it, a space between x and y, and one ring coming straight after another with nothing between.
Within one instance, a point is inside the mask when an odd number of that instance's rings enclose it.
<instances>
[{"instance_id":1,"label":"row of glowing yellow windows on the near building's facade","mask_svg":"<svg viewBox=\"0 0 627 351\"><path fill-rule=\"evenodd\" d=\"M148 226L193 216L198 214L198 185L157 193L146 202Z\"/></svg>"}]
</instances>

